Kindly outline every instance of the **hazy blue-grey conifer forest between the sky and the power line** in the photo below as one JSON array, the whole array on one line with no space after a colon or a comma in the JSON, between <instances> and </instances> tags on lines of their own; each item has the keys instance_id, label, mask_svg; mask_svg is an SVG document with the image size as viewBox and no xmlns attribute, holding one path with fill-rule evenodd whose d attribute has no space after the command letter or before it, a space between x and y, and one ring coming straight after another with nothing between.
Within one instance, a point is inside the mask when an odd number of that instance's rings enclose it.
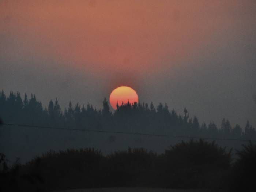
<instances>
[{"instance_id":1,"label":"hazy blue-grey conifer forest between the sky and the power line","mask_svg":"<svg viewBox=\"0 0 256 192\"><path fill-rule=\"evenodd\" d=\"M180 115L162 103L156 107L153 103L127 103L117 107L112 113L105 98L99 110L89 103L73 106L70 102L69 107L61 111L57 98L44 108L35 95L28 98L25 94L22 99L19 92L0 93L0 117L5 123L256 140L255 128L249 122L243 129L240 125L232 127L224 118L217 128L214 122L200 125L198 118L190 117L186 108L184 115Z\"/></svg>"}]
</instances>

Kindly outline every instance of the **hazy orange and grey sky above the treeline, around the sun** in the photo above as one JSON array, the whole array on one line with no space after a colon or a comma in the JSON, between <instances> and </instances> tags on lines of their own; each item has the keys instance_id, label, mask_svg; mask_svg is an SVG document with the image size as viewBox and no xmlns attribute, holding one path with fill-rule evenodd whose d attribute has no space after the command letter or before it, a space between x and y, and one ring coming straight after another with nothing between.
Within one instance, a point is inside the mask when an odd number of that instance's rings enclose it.
<instances>
[{"instance_id":1,"label":"hazy orange and grey sky above the treeline, around the sun","mask_svg":"<svg viewBox=\"0 0 256 192\"><path fill-rule=\"evenodd\" d=\"M0 0L0 89L101 108L117 86L256 126L256 1Z\"/></svg>"}]
</instances>

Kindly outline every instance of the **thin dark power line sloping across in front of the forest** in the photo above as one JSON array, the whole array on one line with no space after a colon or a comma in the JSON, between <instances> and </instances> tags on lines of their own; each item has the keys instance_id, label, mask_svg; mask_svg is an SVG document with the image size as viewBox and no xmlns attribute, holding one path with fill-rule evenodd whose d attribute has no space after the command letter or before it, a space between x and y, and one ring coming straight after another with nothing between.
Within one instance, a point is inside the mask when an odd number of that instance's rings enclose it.
<instances>
[{"instance_id":1,"label":"thin dark power line sloping across in front of the forest","mask_svg":"<svg viewBox=\"0 0 256 192\"><path fill-rule=\"evenodd\" d=\"M175 137L175 138L190 138L190 139L206 139L206 140L226 140L226 141L239 141L239 142L256 142L256 140L245 140L245 139L226 139L226 138L210 138L210 137L199 137L199 136L189 136L189 135L162 135L162 134L153 134L153 133L138 133L138 132L123 132L123 131L104 131L104 130L95 130L95 129L70 129L63 127L46 127L46 126L37 126L37 125L23 125L23 124L11 124L3 123L2 125L16 126L16 127L33 127L33 128L43 128L43 129L61 129L69 131L83 131L83 132L101 132L101 133L117 133L117 134L126 134L126 135L143 135L143 136L157 136L157 137Z\"/></svg>"}]
</instances>

